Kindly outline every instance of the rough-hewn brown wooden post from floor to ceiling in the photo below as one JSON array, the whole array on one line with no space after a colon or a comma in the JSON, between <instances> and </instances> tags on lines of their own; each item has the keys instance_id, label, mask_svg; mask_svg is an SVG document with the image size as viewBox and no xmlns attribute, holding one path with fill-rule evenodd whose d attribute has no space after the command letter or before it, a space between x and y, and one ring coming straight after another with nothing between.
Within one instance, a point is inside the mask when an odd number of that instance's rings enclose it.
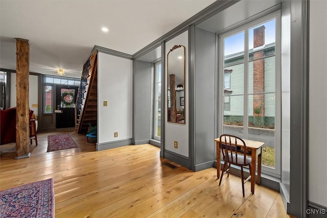
<instances>
[{"instance_id":1,"label":"rough-hewn brown wooden post from floor to ceiling","mask_svg":"<svg viewBox=\"0 0 327 218\"><path fill-rule=\"evenodd\" d=\"M16 157L30 157L29 145L29 72L30 45L29 40L16 39Z\"/></svg>"}]
</instances>

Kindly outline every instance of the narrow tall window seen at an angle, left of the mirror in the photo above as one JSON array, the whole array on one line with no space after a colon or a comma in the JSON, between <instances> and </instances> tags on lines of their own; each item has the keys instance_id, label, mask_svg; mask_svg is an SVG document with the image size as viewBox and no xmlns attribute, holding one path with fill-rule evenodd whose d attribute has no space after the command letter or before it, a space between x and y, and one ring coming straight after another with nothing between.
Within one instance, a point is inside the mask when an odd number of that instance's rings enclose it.
<instances>
[{"instance_id":1,"label":"narrow tall window seen at an angle, left of the mirror","mask_svg":"<svg viewBox=\"0 0 327 218\"><path fill-rule=\"evenodd\" d=\"M161 136L161 62L155 63L154 84L154 133L153 138L160 140Z\"/></svg>"}]
</instances>

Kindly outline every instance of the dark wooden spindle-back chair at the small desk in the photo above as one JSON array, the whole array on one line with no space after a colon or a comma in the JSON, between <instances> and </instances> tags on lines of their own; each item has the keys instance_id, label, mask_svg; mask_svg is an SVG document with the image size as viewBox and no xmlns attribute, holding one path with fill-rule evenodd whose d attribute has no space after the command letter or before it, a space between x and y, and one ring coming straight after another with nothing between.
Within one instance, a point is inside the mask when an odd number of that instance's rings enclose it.
<instances>
[{"instance_id":1,"label":"dark wooden spindle-back chair at the small desk","mask_svg":"<svg viewBox=\"0 0 327 218\"><path fill-rule=\"evenodd\" d=\"M244 181L243 167L248 166L248 168L251 171L251 157L246 156L246 152L244 152L244 151L247 151L245 142L243 141L243 139L241 139L237 136L223 134L220 136L219 149L223 156L223 160L225 162L223 165L222 172L221 172L219 186L223 179L224 173L227 172L227 177L229 176L229 173L232 173L235 175L235 173L229 171L230 165L232 164L232 165L239 166L239 167L241 167L243 197L245 197L244 183L247 182L249 179L251 179L251 176L249 176Z\"/></svg>"}]
</instances>

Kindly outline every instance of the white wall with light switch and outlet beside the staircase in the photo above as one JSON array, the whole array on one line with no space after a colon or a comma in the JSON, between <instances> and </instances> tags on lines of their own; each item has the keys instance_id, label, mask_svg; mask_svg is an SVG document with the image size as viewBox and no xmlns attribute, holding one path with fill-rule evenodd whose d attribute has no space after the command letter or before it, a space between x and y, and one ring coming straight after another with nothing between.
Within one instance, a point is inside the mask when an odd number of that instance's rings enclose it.
<instances>
[{"instance_id":1,"label":"white wall with light switch and outlet beside the staircase","mask_svg":"<svg viewBox=\"0 0 327 218\"><path fill-rule=\"evenodd\" d=\"M132 60L98 53L98 144L132 138L132 80Z\"/></svg>"}]
</instances>

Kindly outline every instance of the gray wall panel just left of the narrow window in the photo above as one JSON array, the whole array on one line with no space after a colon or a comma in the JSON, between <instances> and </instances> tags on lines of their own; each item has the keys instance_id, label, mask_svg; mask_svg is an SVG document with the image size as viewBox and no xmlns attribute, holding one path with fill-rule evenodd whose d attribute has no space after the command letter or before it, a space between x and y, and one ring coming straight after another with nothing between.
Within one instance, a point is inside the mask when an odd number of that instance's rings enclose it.
<instances>
[{"instance_id":1,"label":"gray wall panel just left of the narrow window","mask_svg":"<svg viewBox=\"0 0 327 218\"><path fill-rule=\"evenodd\" d=\"M152 63L135 61L135 144L149 143L151 127Z\"/></svg>"}]
</instances>

